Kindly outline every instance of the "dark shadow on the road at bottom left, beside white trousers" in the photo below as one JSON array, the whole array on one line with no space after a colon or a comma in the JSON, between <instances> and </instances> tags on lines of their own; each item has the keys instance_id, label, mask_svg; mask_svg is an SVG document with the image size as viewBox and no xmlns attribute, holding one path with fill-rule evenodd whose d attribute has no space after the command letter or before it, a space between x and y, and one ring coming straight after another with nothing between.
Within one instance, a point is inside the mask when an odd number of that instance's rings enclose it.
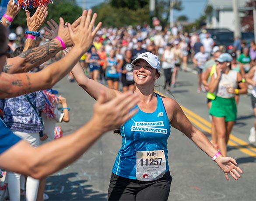
<instances>
[{"instance_id":1,"label":"dark shadow on the road at bottom left, beside white trousers","mask_svg":"<svg viewBox=\"0 0 256 201\"><path fill-rule=\"evenodd\" d=\"M78 173L68 173L47 177L45 193L49 200L63 201L106 201L107 194L95 191L88 180L80 180Z\"/></svg>"}]
</instances>

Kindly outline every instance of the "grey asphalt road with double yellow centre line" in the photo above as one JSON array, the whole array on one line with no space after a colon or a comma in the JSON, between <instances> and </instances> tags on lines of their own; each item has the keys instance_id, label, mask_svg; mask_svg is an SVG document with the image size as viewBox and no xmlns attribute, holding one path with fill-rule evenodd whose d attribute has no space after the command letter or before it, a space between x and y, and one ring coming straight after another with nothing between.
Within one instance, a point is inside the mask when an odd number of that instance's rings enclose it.
<instances>
[{"instance_id":1,"label":"grey asphalt road with double yellow centre line","mask_svg":"<svg viewBox=\"0 0 256 201\"><path fill-rule=\"evenodd\" d=\"M163 76L156 85L162 84ZM70 107L70 122L60 124L63 133L67 135L91 118L95 101L67 78L57 83L53 89L67 98ZM198 94L196 89L197 75L182 71L179 72L177 86L172 89L172 95L165 94L162 87L156 87L162 94L175 98L189 120L210 139L206 93ZM228 156L235 158L244 171L238 181L225 180L224 173L210 157L184 134L172 128L168 139L168 160L173 180L168 200L256 201L256 143L248 144L249 130L254 119L249 96L241 96L238 120L228 144ZM49 200L107 200L112 165L120 146L121 137L108 132L75 163L49 176L46 184Z\"/></svg>"}]
</instances>

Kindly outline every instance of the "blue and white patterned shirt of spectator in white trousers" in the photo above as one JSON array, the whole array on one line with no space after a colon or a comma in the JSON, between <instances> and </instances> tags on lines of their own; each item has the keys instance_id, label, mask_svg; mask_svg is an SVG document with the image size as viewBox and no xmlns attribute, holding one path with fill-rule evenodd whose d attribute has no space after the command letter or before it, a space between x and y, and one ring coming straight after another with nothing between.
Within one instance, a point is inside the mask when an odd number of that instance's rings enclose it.
<instances>
[{"instance_id":1,"label":"blue and white patterned shirt of spectator in white trousers","mask_svg":"<svg viewBox=\"0 0 256 201\"><path fill-rule=\"evenodd\" d=\"M28 94L37 113L45 107L42 91ZM25 95L14 98L0 99L0 109L4 112L3 121L14 131L35 133L42 131L43 125Z\"/></svg>"}]
</instances>

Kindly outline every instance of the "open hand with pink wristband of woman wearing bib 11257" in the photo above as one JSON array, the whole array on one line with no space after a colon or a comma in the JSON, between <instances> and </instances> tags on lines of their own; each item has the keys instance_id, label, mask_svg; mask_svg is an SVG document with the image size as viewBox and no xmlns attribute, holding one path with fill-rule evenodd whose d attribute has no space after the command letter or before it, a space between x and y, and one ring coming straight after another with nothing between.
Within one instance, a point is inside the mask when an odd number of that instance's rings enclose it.
<instances>
[{"instance_id":1,"label":"open hand with pink wristband of woman wearing bib 11257","mask_svg":"<svg viewBox=\"0 0 256 201\"><path fill-rule=\"evenodd\" d=\"M235 159L233 159L231 157L219 157L219 158L216 159L216 162L217 162L218 166L221 168L221 170L223 170L223 172L225 173L225 177L226 177L227 180L229 180L228 173L230 173L230 175L235 180L238 180L238 178L241 177L240 174L242 174L243 172L237 166L237 163L236 163Z\"/></svg>"}]
</instances>

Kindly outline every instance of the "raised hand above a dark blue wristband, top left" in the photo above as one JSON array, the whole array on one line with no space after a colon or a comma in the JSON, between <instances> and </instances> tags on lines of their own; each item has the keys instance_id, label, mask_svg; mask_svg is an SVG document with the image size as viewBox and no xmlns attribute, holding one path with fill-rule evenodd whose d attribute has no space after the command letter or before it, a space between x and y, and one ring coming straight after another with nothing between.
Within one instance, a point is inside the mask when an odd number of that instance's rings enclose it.
<instances>
[{"instance_id":1,"label":"raised hand above a dark blue wristband, top left","mask_svg":"<svg viewBox=\"0 0 256 201\"><path fill-rule=\"evenodd\" d=\"M27 26L28 26L28 31L38 31L39 28L42 26L42 24L45 22L46 17L48 15L47 11L48 7L46 6L39 6L35 14L33 14L32 17L30 17L30 13L28 10L26 11L27 15Z\"/></svg>"}]
</instances>

